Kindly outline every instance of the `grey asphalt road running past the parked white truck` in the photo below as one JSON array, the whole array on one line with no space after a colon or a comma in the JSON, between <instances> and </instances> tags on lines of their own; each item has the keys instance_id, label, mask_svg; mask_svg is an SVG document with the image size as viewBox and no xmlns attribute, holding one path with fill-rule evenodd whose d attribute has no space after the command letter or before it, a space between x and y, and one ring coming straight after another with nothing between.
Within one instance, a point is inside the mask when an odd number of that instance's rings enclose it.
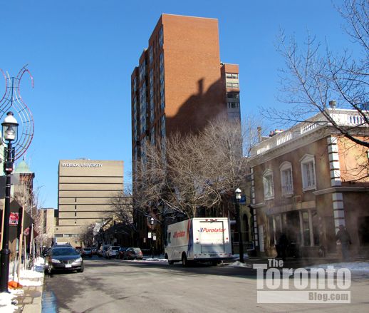
<instances>
[{"instance_id":1,"label":"grey asphalt road running past the parked white truck","mask_svg":"<svg viewBox=\"0 0 369 313\"><path fill-rule=\"evenodd\" d=\"M51 312L369 312L369 279L354 279L350 304L258 304L256 272L166 262L85 260L85 272L46 276ZM55 298L54 298L55 297Z\"/></svg>"}]
</instances>

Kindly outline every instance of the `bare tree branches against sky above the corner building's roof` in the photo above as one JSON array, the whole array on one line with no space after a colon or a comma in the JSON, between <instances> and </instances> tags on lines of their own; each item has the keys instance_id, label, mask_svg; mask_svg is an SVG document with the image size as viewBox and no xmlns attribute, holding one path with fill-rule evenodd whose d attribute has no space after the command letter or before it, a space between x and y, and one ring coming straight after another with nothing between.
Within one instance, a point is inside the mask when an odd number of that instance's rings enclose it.
<instances>
[{"instance_id":1,"label":"bare tree branches against sky above the corner building's roof","mask_svg":"<svg viewBox=\"0 0 369 313\"><path fill-rule=\"evenodd\" d=\"M360 54L345 49L340 56L334 55L325 45L308 34L306 48L301 50L296 39L279 36L278 51L284 57L286 68L281 70L281 96L279 100L292 105L291 109L279 111L263 109L264 116L288 124L305 121L313 114L321 113L321 120L358 145L369 148L369 1L345 0L338 12L345 21L345 31L358 47ZM331 102L331 108L328 106ZM355 123L339 123L336 113L340 108L355 112Z\"/></svg>"}]
</instances>

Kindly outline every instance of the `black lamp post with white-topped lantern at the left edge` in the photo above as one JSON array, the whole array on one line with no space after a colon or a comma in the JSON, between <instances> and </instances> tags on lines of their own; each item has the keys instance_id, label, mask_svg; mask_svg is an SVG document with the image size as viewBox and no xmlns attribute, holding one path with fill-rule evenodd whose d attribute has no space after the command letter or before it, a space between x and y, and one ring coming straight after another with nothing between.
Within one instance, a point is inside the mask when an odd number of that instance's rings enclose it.
<instances>
[{"instance_id":1,"label":"black lamp post with white-topped lantern at the left edge","mask_svg":"<svg viewBox=\"0 0 369 313\"><path fill-rule=\"evenodd\" d=\"M9 280L9 215L10 215L10 188L11 188L11 172L13 172L14 165L14 148L11 145L12 141L16 141L18 138L18 123L14 114L8 112L4 122L1 123L3 126L3 132L1 140L3 143L7 142L7 147L4 148L5 159L4 172L6 173L6 185L5 185L5 207L4 207L4 234L3 234L3 246L1 249L1 267L0 267L0 292L8 291L8 280Z\"/></svg>"}]
</instances>

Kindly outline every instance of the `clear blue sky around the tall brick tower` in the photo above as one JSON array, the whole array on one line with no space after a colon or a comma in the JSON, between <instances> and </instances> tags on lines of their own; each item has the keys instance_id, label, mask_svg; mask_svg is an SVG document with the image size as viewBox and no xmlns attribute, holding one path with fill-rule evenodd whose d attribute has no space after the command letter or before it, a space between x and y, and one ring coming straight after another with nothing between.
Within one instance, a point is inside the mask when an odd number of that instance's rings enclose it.
<instances>
[{"instance_id":1,"label":"clear blue sky around the tall brick tower","mask_svg":"<svg viewBox=\"0 0 369 313\"><path fill-rule=\"evenodd\" d=\"M279 29L300 43L310 31L333 51L350 46L328 0L0 0L0 13L0 68L16 76L28 63L34 78L21 95L35 120L26 161L43 207L57 206L61 159L123 160L130 182L130 75L160 14L219 19L221 60L240 68L242 116L283 106Z\"/></svg>"}]
</instances>

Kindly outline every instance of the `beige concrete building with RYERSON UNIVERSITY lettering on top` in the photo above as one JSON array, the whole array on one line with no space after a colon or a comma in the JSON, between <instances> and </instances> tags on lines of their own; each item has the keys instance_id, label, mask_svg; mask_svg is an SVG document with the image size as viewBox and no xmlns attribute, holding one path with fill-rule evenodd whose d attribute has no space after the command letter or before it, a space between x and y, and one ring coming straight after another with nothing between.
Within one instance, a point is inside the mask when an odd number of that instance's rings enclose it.
<instances>
[{"instance_id":1,"label":"beige concrete building with RYERSON UNIVERSITY lettering on top","mask_svg":"<svg viewBox=\"0 0 369 313\"><path fill-rule=\"evenodd\" d=\"M60 160L56 240L80 245L85 227L112 217L109 202L122 190L123 161Z\"/></svg>"}]
</instances>

